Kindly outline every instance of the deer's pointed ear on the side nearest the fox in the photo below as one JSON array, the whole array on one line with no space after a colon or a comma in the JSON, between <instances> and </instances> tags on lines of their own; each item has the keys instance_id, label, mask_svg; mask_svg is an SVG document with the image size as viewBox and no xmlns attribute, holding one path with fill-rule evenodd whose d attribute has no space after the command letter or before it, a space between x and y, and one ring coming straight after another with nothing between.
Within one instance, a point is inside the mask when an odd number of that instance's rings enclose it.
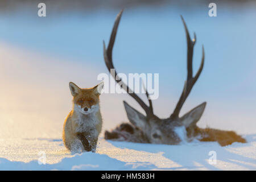
<instances>
[{"instance_id":1,"label":"deer's pointed ear on the side nearest the fox","mask_svg":"<svg viewBox=\"0 0 256 182\"><path fill-rule=\"evenodd\" d=\"M123 104L125 105L125 110L129 121L139 129L144 129L147 122L146 117L127 104L127 102L123 101Z\"/></svg>"}]
</instances>

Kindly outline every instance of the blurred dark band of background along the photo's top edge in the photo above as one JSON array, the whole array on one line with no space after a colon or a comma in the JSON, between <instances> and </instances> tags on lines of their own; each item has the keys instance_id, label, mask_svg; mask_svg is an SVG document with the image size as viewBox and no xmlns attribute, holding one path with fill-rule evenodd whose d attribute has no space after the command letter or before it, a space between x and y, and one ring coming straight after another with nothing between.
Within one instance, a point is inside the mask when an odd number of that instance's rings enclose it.
<instances>
[{"instance_id":1,"label":"blurred dark band of background along the photo's top edge","mask_svg":"<svg viewBox=\"0 0 256 182\"><path fill-rule=\"evenodd\" d=\"M20 7L36 7L38 3L44 2L52 9L67 10L96 10L96 9L121 9L136 6L198 6L199 4L209 4L211 0L1 0L0 10L9 11L20 9ZM255 0L216 0L214 3L240 4L255 2Z\"/></svg>"}]
</instances>

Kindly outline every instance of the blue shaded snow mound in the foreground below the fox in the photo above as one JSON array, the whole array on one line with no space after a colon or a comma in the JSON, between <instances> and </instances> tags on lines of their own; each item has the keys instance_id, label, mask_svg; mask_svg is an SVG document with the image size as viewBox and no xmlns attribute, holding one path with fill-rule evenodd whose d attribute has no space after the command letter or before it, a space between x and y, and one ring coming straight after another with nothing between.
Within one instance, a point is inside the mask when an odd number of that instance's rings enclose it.
<instances>
[{"instance_id":1,"label":"blue shaded snow mound in the foreground below the fox","mask_svg":"<svg viewBox=\"0 0 256 182\"><path fill-rule=\"evenodd\" d=\"M152 164L146 163L125 163L110 158L104 154L86 152L75 154L72 158L64 158L56 164L39 164L38 160L31 162L12 162L0 158L0 170L144 170L155 168Z\"/></svg>"}]
</instances>

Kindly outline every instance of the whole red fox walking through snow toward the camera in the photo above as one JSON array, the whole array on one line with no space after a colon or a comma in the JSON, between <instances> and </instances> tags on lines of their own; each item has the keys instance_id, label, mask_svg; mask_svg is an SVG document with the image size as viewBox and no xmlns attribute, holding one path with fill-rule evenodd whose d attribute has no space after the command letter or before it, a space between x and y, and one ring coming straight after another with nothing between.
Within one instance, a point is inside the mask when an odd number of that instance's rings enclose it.
<instances>
[{"instance_id":1,"label":"whole red fox walking through snow toward the camera","mask_svg":"<svg viewBox=\"0 0 256 182\"><path fill-rule=\"evenodd\" d=\"M69 82L73 96L73 109L65 119L63 142L71 152L96 152L98 135L101 132L100 94L104 82L93 88L81 89Z\"/></svg>"}]
</instances>

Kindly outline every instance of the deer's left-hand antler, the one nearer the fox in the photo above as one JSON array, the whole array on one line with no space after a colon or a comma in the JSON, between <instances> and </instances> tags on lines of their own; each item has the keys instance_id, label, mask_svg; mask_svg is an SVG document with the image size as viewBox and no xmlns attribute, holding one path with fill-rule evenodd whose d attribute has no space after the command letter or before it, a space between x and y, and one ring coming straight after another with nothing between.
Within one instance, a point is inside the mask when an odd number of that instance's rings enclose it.
<instances>
[{"instance_id":1,"label":"deer's left-hand antler, the one nearer the fox","mask_svg":"<svg viewBox=\"0 0 256 182\"><path fill-rule=\"evenodd\" d=\"M121 16L122 16L123 10L121 10L118 15L117 18L115 19L115 23L112 29L112 34L110 36L110 40L109 40L109 45L108 48L106 49L105 47L105 42L103 41L103 46L104 46L104 59L105 59L105 64L106 67L108 67L108 70L110 72L111 69L115 69L114 65L113 65L113 59L112 59L112 50L114 47L114 42L115 42L115 36L117 34L117 28L118 28L118 24L120 22ZM111 72L110 72L111 73ZM141 98L139 98L137 96L137 94L135 94L132 90L130 90L130 88L121 80L117 77L117 72L115 71L115 74L112 75L112 77L114 78L114 80L121 86L123 85L123 87L127 88L126 92L128 94L130 94L131 97L134 98L135 101L138 102L139 105L141 105L141 107L144 109L144 111L146 112L147 116L151 116L154 115L150 109L150 107L148 107L142 100ZM117 79L115 79L115 77L117 77ZM122 87L122 88L123 88Z\"/></svg>"}]
</instances>

